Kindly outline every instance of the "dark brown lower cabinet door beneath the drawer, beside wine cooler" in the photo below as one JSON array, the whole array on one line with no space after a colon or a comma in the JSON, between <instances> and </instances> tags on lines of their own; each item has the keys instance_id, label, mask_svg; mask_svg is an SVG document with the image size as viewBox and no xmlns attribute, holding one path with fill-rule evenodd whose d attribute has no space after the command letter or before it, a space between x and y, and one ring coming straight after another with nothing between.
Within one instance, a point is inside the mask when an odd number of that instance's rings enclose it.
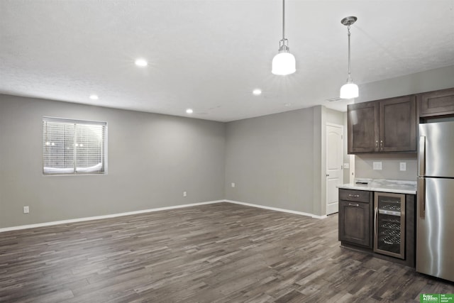
<instances>
[{"instance_id":1,"label":"dark brown lower cabinet door beneath the drawer, beside wine cooler","mask_svg":"<svg viewBox=\"0 0 454 303\"><path fill-rule=\"evenodd\" d=\"M372 248L371 203L339 201L339 241Z\"/></svg>"}]
</instances>

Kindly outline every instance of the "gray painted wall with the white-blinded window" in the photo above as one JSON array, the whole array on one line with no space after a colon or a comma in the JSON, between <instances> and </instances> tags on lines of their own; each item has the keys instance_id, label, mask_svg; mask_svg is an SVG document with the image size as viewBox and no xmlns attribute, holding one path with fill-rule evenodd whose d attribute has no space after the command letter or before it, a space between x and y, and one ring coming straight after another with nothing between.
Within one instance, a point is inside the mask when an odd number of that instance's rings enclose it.
<instances>
[{"instance_id":1,"label":"gray painted wall with the white-blinded window","mask_svg":"<svg viewBox=\"0 0 454 303\"><path fill-rule=\"evenodd\" d=\"M108 175L43 176L43 116L107 121ZM224 123L0 95L0 138L0 228L224 198Z\"/></svg>"}]
</instances>

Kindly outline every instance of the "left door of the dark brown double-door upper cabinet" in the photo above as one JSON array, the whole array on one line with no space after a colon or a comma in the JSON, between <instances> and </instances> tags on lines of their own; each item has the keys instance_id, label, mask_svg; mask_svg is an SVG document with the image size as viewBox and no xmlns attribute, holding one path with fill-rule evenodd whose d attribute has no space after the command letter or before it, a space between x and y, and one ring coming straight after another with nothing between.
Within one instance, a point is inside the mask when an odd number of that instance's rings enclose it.
<instances>
[{"instance_id":1,"label":"left door of the dark brown double-door upper cabinet","mask_svg":"<svg viewBox=\"0 0 454 303\"><path fill-rule=\"evenodd\" d=\"M348 106L348 153L378 151L378 104L375 101Z\"/></svg>"}]
</instances>

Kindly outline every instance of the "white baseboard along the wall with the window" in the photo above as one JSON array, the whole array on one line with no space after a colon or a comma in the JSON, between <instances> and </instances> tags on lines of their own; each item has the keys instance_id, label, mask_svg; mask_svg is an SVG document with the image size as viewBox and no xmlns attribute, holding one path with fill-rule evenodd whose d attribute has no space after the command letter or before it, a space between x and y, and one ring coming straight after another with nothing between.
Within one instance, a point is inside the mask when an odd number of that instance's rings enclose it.
<instances>
[{"instance_id":1,"label":"white baseboard along the wall with the window","mask_svg":"<svg viewBox=\"0 0 454 303\"><path fill-rule=\"evenodd\" d=\"M216 200L216 201L209 201L209 202L199 202L199 203L192 203L192 204L165 206L165 207L160 207L160 208L157 208L157 209L144 209L144 210L141 210L141 211L128 211L128 212L123 212L123 213L119 213L119 214L106 214L104 216L89 216L89 217L85 217L85 218L77 218L77 219L69 219L69 220L61 220L61 221L52 221L52 222L28 224L28 225L21 225L21 226L11 226L11 227L6 227L6 228L0 228L0 233L5 232L5 231L18 231L20 229L27 229L27 228L52 226L52 225L68 224L68 223L99 220L99 219L109 219L109 218L115 218L117 216L131 216L132 214L144 214L144 213L153 212L153 211L165 211L167 209L181 209L183 207L198 206L198 205L205 205L205 204L214 204L214 203L220 203L220 202L226 202L226 201L225 200Z\"/></svg>"}]
</instances>

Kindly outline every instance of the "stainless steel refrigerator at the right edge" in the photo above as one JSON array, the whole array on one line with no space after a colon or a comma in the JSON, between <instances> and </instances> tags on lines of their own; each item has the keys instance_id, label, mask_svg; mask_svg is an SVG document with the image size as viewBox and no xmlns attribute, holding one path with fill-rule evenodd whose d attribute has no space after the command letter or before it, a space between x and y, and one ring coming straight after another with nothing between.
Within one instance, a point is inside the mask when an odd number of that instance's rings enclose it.
<instances>
[{"instance_id":1,"label":"stainless steel refrigerator at the right edge","mask_svg":"<svg viewBox=\"0 0 454 303\"><path fill-rule=\"evenodd\" d=\"M454 281L454 121L419 125L416 271Z\"/></svg>"}]
</instances>

